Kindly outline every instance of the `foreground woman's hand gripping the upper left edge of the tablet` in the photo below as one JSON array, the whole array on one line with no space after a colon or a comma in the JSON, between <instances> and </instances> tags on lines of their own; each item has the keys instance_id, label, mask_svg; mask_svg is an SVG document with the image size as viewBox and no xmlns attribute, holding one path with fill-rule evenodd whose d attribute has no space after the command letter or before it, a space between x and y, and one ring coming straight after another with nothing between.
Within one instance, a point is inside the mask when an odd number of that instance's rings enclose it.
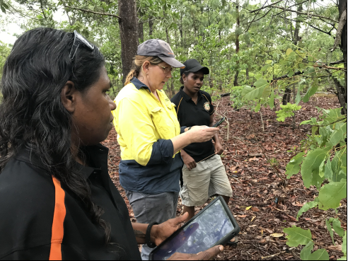
<instances>
[{"instance_id":1,"label":"foreground woman's hand gripping the upper left edge of the tablet","mask_svg":"<svg viewBox=\"0 0 348 261\"><path fill-rule=\"evenodd\" d=\"M187 219L188 212L185 212L182 216L178 216L175 219L169 219L159 225L153 225L151 228L151 241L155 245L161 244L169 236L180 228L182 223Z\"/></svg>"}]
</instances>

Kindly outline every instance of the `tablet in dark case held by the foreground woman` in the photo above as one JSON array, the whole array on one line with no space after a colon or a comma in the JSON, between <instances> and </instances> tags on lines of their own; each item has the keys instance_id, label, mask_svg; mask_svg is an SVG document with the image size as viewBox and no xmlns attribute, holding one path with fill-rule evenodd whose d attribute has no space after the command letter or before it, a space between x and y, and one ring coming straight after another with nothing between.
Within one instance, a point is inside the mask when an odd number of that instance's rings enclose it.
<instances>
[{"instance_id":1,"label":"tablet in dark case held by the foreground woman","mask_svg":"<svg viewBox=\"0 0 348 261\"><path fill-rule=\"evenodd\" d=\"M149 260L167 260L177 252L194 254L214 245L225 245L239 232L240 227L236 219L224 198L219 196L161 245L153 248Z\"/></svg>"}]
</instances>

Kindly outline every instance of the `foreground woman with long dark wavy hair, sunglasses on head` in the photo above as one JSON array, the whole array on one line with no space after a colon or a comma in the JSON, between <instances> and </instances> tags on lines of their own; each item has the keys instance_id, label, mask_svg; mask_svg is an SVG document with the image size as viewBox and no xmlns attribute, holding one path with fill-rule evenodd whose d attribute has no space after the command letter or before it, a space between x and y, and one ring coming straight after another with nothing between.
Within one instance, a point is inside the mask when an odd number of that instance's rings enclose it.
<instances>
[{"instance_id":1,"label":"foreground woman with long dark wavy hair, sunglasses on head","mask_svg":"<svg viewBox=\"0 0 348 261\"><path fill-rule=\"evenodd\" d=\"M158 245L187 218L129 221L99 144L115 110L104 64L76 32L36 28L13 45L0 85L0 260L139 260L138 243Z\"/></svg>"}]
</instances>

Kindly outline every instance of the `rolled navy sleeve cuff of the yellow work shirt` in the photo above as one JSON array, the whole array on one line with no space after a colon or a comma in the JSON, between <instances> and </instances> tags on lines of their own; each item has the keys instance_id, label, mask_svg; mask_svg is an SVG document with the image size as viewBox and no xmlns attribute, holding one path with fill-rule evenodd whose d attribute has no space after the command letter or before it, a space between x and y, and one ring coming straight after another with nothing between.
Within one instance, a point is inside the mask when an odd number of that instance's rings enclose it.
<instances>
[{"instance_id":1,"label":"rolled navy sleeve cuff of the yellow work shirt","mask_svg":"<svg viewBox=\"0 0 348 261\"><path fill-rule=\"evenodd\" d=\"M168 164L173 159L174 146L170 139L158 139L152 145L151 158L146 166Z\"/></svg>"}]
</instances>

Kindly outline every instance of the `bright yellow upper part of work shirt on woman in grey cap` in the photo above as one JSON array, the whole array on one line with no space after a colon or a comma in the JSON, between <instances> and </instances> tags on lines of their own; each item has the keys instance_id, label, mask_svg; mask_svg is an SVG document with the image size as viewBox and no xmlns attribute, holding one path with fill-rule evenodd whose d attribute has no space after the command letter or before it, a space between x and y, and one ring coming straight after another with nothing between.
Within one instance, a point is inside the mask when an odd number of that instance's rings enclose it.
<instances>
[{"instance_id":1,"label":"bright yellow upper part of work shirt on woman in grey cap","mask_svg":"<svg viewBox=\"0 0 348 261\"><path fill-rule=\"evenodd\" d=\"M168 140L180 134L175 105L170 102L164 91L157 90L157 95L160 100L157 100L144 84L137 84L136 87L129 83L115 98L113 124L120 144L122 161L134 160L141 166L146 166L151 158L153 144L159 139ZM168 146L173 147L171 141L170 144ZM161 153L156 152L153 157L158 155ZM174 156L170 155L172 158Z\"/></svg>"}]
</instances>

